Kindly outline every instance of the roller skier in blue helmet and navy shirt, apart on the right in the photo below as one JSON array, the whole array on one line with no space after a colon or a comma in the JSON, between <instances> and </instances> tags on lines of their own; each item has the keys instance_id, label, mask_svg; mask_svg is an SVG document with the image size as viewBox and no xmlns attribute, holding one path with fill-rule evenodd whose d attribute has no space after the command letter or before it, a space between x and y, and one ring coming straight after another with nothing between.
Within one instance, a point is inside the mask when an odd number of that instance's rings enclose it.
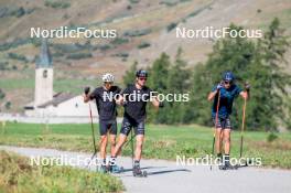
<instances>
[{"instance_id":1,"label":"roller skier in blue helmet and navy shirt, apart on the right","mask_svg":"<svg viewBox=\"0 0 291 193\"><path fill-rule=\"evenodd\" d=\"M245 90L235 84L235 75L231 72L225 72L223 81L213 87L208 94L208 100L214 100L212 106L212 119L215 125L215 149L217 158L222 158L223 163L219 169L234 169L230 164L230 131L233 129L230 115L233 110L233 103L237 96L244 99L248 98L249 85L245 85ZM219 99L219 103L218 103ZM218 103L218 104L217 104ZM216 119L218 105L218 115ZM222 146L224 144L224 146ZM224 154L223 154L224 150Z\"/></svg>"}]
</instances>

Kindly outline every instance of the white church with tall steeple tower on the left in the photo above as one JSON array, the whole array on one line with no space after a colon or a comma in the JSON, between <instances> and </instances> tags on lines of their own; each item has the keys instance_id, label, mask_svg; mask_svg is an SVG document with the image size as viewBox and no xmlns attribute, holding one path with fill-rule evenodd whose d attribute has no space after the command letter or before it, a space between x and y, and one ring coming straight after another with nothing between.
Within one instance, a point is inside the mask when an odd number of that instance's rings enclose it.
<instances>
[{"instance_id":1,"label":"white church with tall steeple tower on the left","mask_svg":"<svg viewBox=\"0 0 291 193\"><path fill-rule=\"evenodd\" d=\"M42 41L40 58L35 67L34 101L24 106L24 114L32 117L88 117L89 105L82 95L53 92L53 63L46 40ZM72 85L74 86L74 85ZM95 103L90 103L93 115L97 116Z\"/></svg>"}]
</instances>

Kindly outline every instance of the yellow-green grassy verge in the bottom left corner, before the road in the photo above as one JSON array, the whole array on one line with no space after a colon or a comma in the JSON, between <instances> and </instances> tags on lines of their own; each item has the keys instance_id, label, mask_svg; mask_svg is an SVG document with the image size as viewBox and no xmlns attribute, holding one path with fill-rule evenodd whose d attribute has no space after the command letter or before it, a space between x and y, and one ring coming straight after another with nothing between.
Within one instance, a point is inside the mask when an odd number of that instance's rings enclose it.
<instances>
[{"instance_id":1,"label":"yellow-green grassy verge in the bottom left corner, before the road","mask_svg":"<svg viewBox=\"0 0 291 193\"><path fill-rule=\"evenodd\" d=\"M72 167L31 165L30 160L0 151L0 192L121 192L120 180Z\"/></svg>"}]
</instances>

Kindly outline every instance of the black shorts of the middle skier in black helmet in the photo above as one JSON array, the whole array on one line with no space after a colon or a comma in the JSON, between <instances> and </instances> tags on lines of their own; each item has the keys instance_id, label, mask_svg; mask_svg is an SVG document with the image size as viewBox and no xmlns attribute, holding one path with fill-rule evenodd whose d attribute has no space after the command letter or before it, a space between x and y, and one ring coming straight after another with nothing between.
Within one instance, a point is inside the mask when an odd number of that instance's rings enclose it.
<instances>
[{"instance_id":1,"label":"black shorts of the middle skier in black helmet","mask_svg":"<svg viewBox=\"0 0 291 193\"><path fill-rule=\"evenodd\" d=\"M144 120L137 121L134 119L123 117L120 133L128 136L131 129L134 135L144 135Z\"/></svg>"}]
</instances>

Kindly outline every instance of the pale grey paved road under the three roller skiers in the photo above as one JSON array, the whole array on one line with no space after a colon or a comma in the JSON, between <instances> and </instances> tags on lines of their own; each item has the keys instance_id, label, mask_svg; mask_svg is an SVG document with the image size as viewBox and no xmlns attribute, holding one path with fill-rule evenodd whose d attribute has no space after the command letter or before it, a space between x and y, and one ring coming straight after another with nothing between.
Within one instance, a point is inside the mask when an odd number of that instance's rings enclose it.
<instances>
[{"instance_id":1,"label":"pale grey paved road under the three roller skiers","mask_svg":"<svg viewBox=\"0 0 291 193\"><path fill-rule=\"evenodd\" d=\"M58 151L53 149L18 148L0 146L0 149L13 151L26 157L51 158L90 158L90 154ZM75 164L75 163L71 163ZM217 167L190 165L181 167L164 160L142 160L141 167L147 170L148 178L133 178L130 158L118 158L118 164L125 172L116 174L126 185L127 192L200 192L200 193L290 193L291 171L280 169L260 169L254 167L239 168L233 171L220 171ZM86 168L86 163L74 167ZM89 170L95 171L94 165Z\"/></svg>"}]
</instances>

